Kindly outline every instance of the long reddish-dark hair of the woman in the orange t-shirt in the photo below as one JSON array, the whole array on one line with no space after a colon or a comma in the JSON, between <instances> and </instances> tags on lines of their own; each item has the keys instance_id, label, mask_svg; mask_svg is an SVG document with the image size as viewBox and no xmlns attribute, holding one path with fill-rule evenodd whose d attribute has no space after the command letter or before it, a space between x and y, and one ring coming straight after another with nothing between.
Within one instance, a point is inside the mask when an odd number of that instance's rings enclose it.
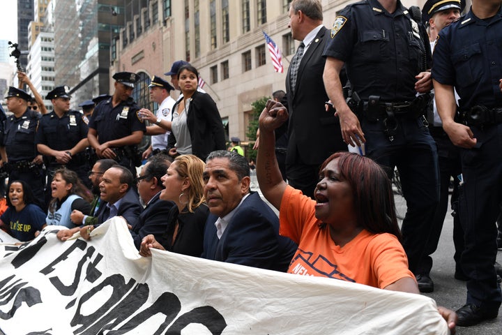
<instances>
[{"instance_id":1,"label":"long reddish-dark hair of the woman in the orange t-shirt","mask_svg":"<svg viewBox=\"0 0 502 335\"><path fill-rule=\"evenodd\" d=\"M401 239L392 186L383 168L365 156L337 152L324 161L319 171L336 158L340 180L347 181L352 188L358 225L374 234L388 232Z\"/></svg>"}]
</instances>

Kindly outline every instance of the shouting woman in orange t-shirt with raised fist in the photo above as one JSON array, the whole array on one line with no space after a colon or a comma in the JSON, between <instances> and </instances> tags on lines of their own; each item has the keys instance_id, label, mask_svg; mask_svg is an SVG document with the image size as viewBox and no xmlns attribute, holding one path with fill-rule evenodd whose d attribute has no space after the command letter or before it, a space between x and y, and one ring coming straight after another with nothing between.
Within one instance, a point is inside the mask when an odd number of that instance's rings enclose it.
<instances>
[{"instance_id":1,"label":"shouting woman in orange t-shirt with raised fist","mask_svg":"<svg viewBox=\"0 0 502 335\"><path fill-rule=\"evenodd\" d=\"M370 158L338 152L321 165L312 200L288 186L277 165L274 130L286 119L284 106L266 103L257 177L265 198L280 209L280 233L298 243L288 272L418 294L386 173ZM457 315L443 307L439 312L455 329Z\"/></svg>"}]
</instances>

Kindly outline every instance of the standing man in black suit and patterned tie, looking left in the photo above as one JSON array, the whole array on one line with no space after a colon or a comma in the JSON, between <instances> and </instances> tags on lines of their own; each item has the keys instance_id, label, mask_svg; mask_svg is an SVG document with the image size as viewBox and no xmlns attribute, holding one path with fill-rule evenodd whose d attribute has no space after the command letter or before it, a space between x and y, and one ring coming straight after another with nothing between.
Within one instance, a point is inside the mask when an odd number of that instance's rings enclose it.
<instances>
[{"instance_id":1,"label":"standing man in black suit and patterned tie, looking left","mask_svg":"<svg viewBox=\"0 0 502 335\"><path fill-rule=\"evenodd\" d=\"M322 54L329 33L322 21L321 1L291 1L289 28L291 36L300 40L301 45L291 59L286 77L289 112L286 175L291 186L311 198L321 163L336 151L347 151L340 123L325 107L329 98L322 79L326 61Z\"/></svg>"}]
</instances>

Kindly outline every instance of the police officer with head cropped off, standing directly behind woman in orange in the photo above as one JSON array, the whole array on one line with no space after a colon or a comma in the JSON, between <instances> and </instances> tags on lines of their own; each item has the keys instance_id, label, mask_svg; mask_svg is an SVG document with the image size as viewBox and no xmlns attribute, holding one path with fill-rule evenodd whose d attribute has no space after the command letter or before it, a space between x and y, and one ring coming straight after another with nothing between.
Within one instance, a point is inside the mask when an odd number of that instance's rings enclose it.
<instances>
[{"instance_id":1,"label":"police officer with head cropped off, standing directly behind woman in orange","mask_svg":"<svg viewBox=\"0 0 502 335\"><path fill-rule=\"evenodd\" d=\"M411 15L399 0L353 3L336 17L324 55L324 84L340 117L344 141L366 142L366 155L389 177L395 167L400 173L408 205L402 244L409 269L417 275L439 203L436 144L423 116L432 80L420 10ZM353 110L340 83L344 65ZM417 92L423 95L416 97Z\"/></svg>"}]
</instances>

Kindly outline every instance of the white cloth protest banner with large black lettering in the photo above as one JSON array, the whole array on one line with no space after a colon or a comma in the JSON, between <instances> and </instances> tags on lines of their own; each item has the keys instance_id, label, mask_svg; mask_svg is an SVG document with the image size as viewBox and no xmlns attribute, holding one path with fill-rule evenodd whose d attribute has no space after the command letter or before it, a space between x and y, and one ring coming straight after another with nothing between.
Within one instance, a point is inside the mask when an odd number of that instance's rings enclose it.
<instances>
[{"instance_id":1,"label":"white cloth protest banner with large black lettering","mask_svg":"<svg viewBox=\"0 0 502 335\"><path fill-rule=\"evenodd\" d=\"M0 329L20 334L448 334L432 299L153 251L114 218L0 245Z\"/></svg>"}]
</instances>

